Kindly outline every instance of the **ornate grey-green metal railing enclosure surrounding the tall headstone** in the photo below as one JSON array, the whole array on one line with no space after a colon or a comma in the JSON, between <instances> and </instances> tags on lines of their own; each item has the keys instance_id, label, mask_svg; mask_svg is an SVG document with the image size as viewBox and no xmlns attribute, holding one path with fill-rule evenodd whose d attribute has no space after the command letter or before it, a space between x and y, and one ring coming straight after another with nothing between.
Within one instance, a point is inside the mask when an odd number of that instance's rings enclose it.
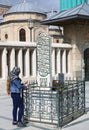
<instances>
[{"instance_id":1,"label":"ornate grey-green metal railing enclosure surrounding the tall headstone","mask_svg":"<svg viewBox=\"0 0 89 130\"><path fill-rule=\"evenodd\" d=\"M66 82L55 90L29 84L23 100L26 120L63 127L85 113L85 82Z\"/></svg>"}]
</instances>

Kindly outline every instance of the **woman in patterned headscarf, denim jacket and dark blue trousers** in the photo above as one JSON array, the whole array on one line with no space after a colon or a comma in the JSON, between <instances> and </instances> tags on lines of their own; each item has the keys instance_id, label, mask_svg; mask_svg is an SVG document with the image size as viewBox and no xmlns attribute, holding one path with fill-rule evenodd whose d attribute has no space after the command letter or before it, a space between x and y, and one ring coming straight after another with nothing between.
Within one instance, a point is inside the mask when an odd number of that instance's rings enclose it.
<instances>
[{"instance_id":1,"label":"woman in patterned headscarf, denim jacket and dark blue trousers","mask_svg":"<svg viewBox=\"0 0 89 130\"><path fill-rule=\"evenodd\" d=\"M10 93L13 101L13 125L17 125L18 127L24 127L25 124L23 124L22 122L24 105L20 93L21 89L25 89L26 86L21 83L19 74L19 67L14 67L10 72Z\"/></svg>"}]
</instances>

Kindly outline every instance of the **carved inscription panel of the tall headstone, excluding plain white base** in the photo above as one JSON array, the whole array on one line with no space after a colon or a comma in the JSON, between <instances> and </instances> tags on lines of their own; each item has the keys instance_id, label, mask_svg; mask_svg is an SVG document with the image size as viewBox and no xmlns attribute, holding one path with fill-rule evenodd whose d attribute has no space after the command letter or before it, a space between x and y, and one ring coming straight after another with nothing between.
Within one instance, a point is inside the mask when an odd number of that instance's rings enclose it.
<instances>
[{"instance_id":1,"label":"carved inscription panel of the tall headstone, excluding plain white base","mask_svg":"<svg viewBox=\"0 0 89 130\"><path fill-rule=\"evenodd\" d=\"M50 74L50 37L45 33L37 38L37 65L40 76Z\"/></svg>"}]
</instances>

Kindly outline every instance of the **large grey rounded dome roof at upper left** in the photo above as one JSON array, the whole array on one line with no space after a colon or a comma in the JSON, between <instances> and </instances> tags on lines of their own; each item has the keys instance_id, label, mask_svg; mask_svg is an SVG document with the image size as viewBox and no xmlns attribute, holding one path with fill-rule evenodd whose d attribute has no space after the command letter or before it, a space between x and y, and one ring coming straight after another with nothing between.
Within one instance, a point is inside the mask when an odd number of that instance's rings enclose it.
<instances>
[{"instance_id":1,"label":"large grey rounded dome roof at upper left","mask_svg":"<svg viewBox=\"0 0 89 130\"><path fill-rule=\"evenodd\" d=\"M12 14L12 13L29 13L29 12L46 14L45 11L42 8L38 7L37 5L32 4L30 2L22 2L12 6L5 13L5 15Z\"/></svg>"}]
</instances>

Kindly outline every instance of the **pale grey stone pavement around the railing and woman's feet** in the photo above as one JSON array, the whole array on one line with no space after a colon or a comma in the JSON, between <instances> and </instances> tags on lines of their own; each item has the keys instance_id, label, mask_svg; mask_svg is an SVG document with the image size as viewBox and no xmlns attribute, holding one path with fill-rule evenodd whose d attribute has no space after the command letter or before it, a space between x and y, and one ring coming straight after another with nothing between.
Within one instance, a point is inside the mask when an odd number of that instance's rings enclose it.
<instances>
[{"instance_id":1,"label":"pale grey stone pavement around the railing and woman's feet","mask_svg":"<svg viewBox=\"0 0 89 130\"><path fill-rule=\"evenodd\" d=\"M88 107L88 87L86 84L86 100ZM0 92L0 130L58 130L56 126L40 124L40 123L28 123L25 128L18 128L12 125L12 100L10 96ZM64 126L62 130L89 130L89 112L72 121L68 125Z\"/></svg>"}]
</instances>

